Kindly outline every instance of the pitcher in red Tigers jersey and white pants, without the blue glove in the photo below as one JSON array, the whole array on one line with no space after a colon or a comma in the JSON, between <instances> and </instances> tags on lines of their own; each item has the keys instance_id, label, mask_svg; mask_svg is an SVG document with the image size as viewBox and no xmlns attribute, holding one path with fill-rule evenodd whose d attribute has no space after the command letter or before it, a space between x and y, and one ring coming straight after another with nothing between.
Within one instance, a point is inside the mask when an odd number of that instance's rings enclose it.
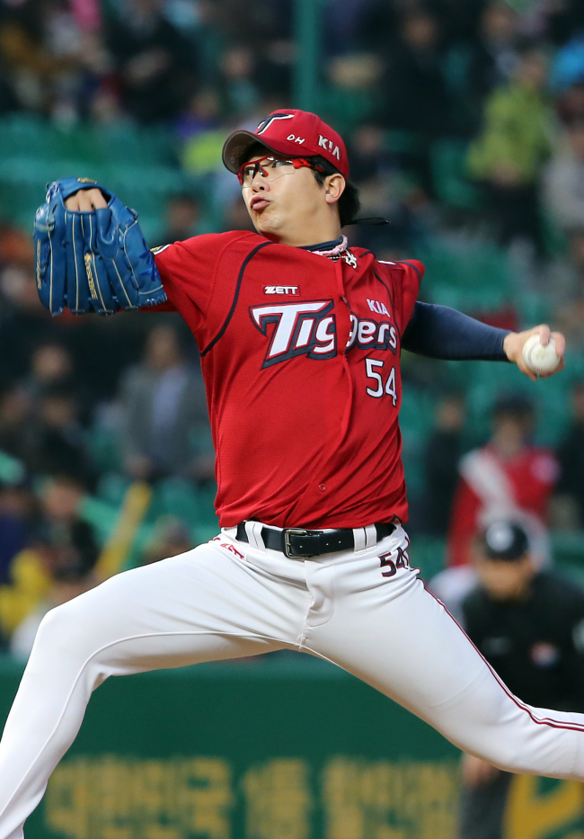
<instances>
[{"instance_id":1,"label":"pitcher in red Tigers jersey and white pants, without the blue glove","mask_svg":"<svg viewBox=\"0 0 584 839\"><path fill-rule=\"evenodd\" d=\"M42 621L0 743L0 839L22 839L110 675L276 649L336 663L491 762L584 780L584 716L509 693L411 568L403 530L402 347L535 379L522 348L549 327L509 333L420 303L420 263L349 247L347 151L315 114L235 131L224 162L257 233L155 254L161 308L199 345L221 531ZM84 183L66 207L84 219L104 204Z\"/></svg>"}]
</instances>

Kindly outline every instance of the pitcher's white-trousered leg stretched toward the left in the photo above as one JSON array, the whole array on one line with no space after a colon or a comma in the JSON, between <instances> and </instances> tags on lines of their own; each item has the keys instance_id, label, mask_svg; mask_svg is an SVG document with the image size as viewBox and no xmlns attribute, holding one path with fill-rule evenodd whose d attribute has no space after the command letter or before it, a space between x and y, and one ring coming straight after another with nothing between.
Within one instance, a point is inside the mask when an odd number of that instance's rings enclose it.
<instances>
[{"instance_id":1,"label":"pitcher's white-trousered leg stretched toward the left","mask_svg":"<svg viewBox=\"0 0 584 839\"><path fill-rule=\"evenodd\" d=\"M291 564L300 573L301 563ZM298 580L298 583L304 581ZM294 647L309 595L209 543L49 612L0 743L0 839L22 839L108 676Z\"/></svg>"}]
</instances>

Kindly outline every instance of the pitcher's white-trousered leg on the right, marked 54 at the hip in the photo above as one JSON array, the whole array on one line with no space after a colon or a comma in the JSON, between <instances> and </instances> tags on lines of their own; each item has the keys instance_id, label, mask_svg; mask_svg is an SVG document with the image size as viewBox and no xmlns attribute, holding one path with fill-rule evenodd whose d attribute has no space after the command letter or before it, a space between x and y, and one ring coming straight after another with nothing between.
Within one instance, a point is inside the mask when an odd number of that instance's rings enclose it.
<instances>
[{"instance_id":1,"label":"pitcher's white-trousered leg on the right, marked 54 at the hip","mask_svg":"<svg viewBox=\"0 0 584 839\"><path fill-rule=\"evenodd\" d=\"M500 769L584 781L584 715L514 697L407 567L406 548L399 528L360 556L307 562L309 588L330 577L334 607L323 618L309 611L305 648Z\"/></svg>"}]
</instances>

